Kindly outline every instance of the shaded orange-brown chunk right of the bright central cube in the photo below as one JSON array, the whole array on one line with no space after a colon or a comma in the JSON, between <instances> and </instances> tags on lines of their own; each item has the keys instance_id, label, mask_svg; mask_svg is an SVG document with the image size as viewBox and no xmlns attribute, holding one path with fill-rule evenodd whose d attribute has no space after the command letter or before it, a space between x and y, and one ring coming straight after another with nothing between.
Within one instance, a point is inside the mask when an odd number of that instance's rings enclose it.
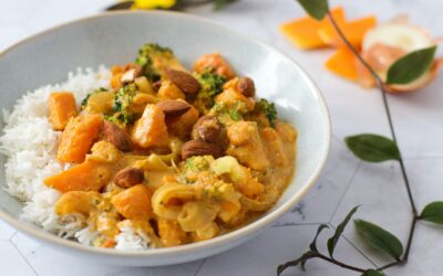
<instances>
[{"instance_id":1,"label":"shaded orange-brown chunk right of the bright central cube","mask_svg":"<svg viewBox=\"0 0 443 276\"><path fill-rule=\"evenodd\" d=\"M197 120L198 110L193 106L182 116L167 118L167 130L171 135L185 140L189 137L190 131L193 130L193 126Z\"/></svg>"}]
</instances>

